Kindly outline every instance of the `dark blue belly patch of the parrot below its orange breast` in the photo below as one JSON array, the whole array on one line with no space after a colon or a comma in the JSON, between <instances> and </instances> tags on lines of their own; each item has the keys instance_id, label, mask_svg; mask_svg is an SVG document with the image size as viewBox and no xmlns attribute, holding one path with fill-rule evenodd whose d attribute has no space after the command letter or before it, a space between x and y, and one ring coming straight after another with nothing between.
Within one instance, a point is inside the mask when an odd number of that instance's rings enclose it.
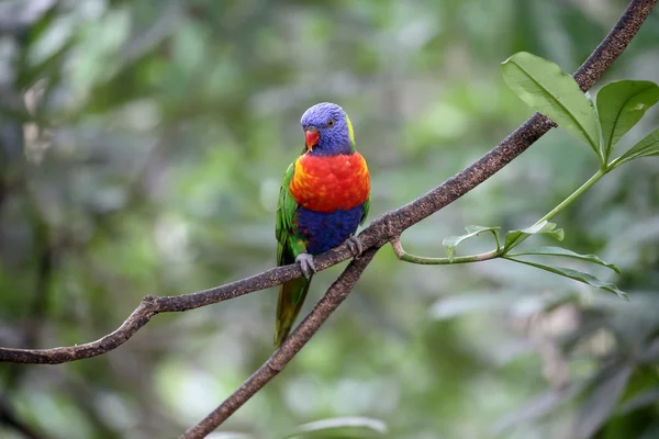
<instances>
[{"instance_id":1,"label":"dark blue belly patch of the parrot below its orange breast","mask_svg":"<svg viewBox=\"0 0 659 439\"><path fill-rule=\"evenodd\" d=\"M298 232L309 240L306 251L319 255L343 244L357 230L362 209L364 204L349 211L321 213L298 207Z\"/></svg>"}]
</instances>

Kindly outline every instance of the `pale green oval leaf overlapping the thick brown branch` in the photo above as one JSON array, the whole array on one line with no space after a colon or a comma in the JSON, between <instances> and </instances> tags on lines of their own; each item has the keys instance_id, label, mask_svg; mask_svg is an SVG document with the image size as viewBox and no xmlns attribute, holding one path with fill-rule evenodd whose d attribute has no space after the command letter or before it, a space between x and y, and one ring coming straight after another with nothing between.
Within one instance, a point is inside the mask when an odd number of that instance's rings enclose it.
<instances>
[{"instance_id":1,"label":"pale green oval leaf overlapping the thick brown branch","mask_svg":"<svg viewBox=\"0 0 659 439\"><path fill-rule=\"evenodd\" d=\"M503 61L502 71L507 86L528 106L589 144L601 157L595 112L570 75L526 52Z\"/></svg>"}]
</instances>

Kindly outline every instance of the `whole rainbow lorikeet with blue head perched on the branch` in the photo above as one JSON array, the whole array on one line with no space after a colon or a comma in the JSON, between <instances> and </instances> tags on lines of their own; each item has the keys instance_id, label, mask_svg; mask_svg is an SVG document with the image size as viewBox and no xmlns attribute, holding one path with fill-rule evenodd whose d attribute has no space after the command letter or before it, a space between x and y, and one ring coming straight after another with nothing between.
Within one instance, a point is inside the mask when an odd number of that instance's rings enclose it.
<instances>
[{"instance_id":1,"label":"whole rainbow lorikeet with blue head perched on the branch","mask_svg":"<svg viewBox=\"0 0 659 439\"><path fill-rule=\"evenodd\" d=\"M348 115L334 103L319 103L302 115L305 145L289 166L277 207L277 264L300 263L304 278L279 288L275 345L289 335L311 283L314 255L346 241L355 255L361 246L353 235L368 214L370 180L366 160L355 149Z\"/></svg>"}]
</instances>

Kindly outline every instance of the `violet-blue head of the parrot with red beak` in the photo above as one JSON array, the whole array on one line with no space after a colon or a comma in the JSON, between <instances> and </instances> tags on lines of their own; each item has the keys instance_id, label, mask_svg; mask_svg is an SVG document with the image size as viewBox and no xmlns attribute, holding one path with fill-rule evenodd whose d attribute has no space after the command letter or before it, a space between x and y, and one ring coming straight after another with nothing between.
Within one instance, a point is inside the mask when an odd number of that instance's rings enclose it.
<instances>
[{"instance_id":1,"label":"violet-blue head of the parrot with red beak","mask_svg":"<svg viewBox=\"0 0 659 439\"><path fill-rule=\"evenodd\" d=\"M348 115L335 103L313 105L300 121L309 154L338 156L355 151L355 134Z\"/></svg>"}]
</instances>

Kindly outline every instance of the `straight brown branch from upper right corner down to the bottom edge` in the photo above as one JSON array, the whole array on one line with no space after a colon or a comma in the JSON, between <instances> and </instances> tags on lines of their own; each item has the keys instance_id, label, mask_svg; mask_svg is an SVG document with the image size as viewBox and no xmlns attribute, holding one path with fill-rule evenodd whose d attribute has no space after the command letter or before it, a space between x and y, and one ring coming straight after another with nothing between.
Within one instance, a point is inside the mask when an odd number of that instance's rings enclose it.
<instances>
[{"instance_id":1,"label":"straight brown branch from upper right corner down to the bottom edge","mask_svg":"<svg viewBox=\"0 0 659 439\"><path fill-rule=\"evenodd\" d=\"M632 0L629 2L615 27L573 75L581 90L585 91L592 87L615 58L623 53L656 3L657 0ZM400 234L404 229L485 181L554 126L556 124L551 120L536 113L490 153L462 172L442 183L424 196L373 221L359 235L362 245L371 247L364 259L353 260L313 311L284 340L281 348L272 353L268 361L254 372L238 390L224 399L217 408L198 425L188 429L180 438L197 439L205 437L272 380L311 339L319 327L330 317L330 314L346 299L379 247L387 241L393 244L398 241L400 244Z\"/></svg>"}]
</instances>

